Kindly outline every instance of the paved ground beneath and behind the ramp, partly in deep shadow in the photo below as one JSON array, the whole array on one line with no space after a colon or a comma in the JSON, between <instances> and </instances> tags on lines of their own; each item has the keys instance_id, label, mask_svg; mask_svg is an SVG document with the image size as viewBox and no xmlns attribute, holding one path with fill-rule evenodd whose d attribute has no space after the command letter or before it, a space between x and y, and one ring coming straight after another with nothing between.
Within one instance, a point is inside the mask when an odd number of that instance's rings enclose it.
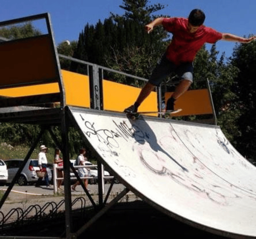
<instances>
[{"instance_id":1,"label":"paved ground beneath and behind the ramp, partly in deep shadow","mask_svg":"<svg viewBox=\"0 0 256 239\"><path fill-rule=\"evenodd\" d=\"M105 193L108 191L110 184L105 185ZM90 195L95 202L98 202L98 189L97 185L89 185ZM6 186L0 187L0 190L4 192ZM110 197L108 201L111 201L116 194L120 193L124 189L122 184L114 184ZM76 198L83 197L86 200L86 205L90 205L86 194L83 192L82 187L78 186L76 192L72 192L72 201ZM6 215L12 208L20 207L22 210L27 209L30 205L40 205L41 207L47 202L59 203L64 199L64 191L59 192L54 195L53 188L46 188L42 186L36 188L35 186L14 186L12 192L9 194L8 199L0 209ZM196 237L198 239L226 239L224 237L219 237L206 232L198 231L195 228L184 225L178 221L175 221L171 217L164 215L160 211L150 207L138 197L136 197L132 192L128 192L124 198L120 200L123 203L118 203L111 211L108 211L105 215L100 217L93 225L91 225L84 233L79 237L101 237L104 235L105 238L111 239L155 239L159 236L164 236L172 233L173 238L192 238ZM128 202L128 203L126 203ZM74 205L78 208L81 201ZM64 210L64 204L62 205ZM16 219L14 214L13 220ZM63 224L64 225L64 224ZM77 225L80 229L81 225ZM54 228L56 230L56 228ZM58 228L59 231L54 232L52 229L45 231L30 232L30 236L59 236L65 231L63 228ZM75 230L75 231L76 231ZM125 231L128 233L124 233ZM47 234L49 233L49 235ZM34 233L34 234L33 234ZM55 234L54 234L55 233ZM12 234L11 234L12 235ZM16 234L15 234L16 235ZM25 234L28 236L28 234ZM1 233L0 233L1 236ZM24 235L22 235L24 236Z\"/></svg>"}]
</instances>

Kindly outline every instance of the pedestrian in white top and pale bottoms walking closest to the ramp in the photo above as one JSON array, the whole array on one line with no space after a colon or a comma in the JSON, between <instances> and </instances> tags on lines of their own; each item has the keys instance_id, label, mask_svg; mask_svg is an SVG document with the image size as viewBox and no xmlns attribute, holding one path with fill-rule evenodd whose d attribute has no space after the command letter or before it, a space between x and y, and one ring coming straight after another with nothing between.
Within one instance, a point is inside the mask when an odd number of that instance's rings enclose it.
<instances>
[{"instance_id":1,"label":"pedestrian in white top and pale bottoms walking closest to the ramp","mask_svg":"<svg viewBox=\"0 0 256 239\"><path fill-rule=\"evenodd\" d=\"M81 148L79 150L79 155L78 155L78 158L76 160L76 165L77 166L85 166L86 165L86 161L87 161L86 150L85 150L85 148ZM80 178L88 177L89 176L89 170L87 168L85 168L85 167L78 168L78 175L79 175ZM88 187L88 179L85 178L83 180L84 180L84 186L87 189L87 187ZM78 186L79 184L80 184L80 182L77 181L74 185L72 185L72 187L71 187L72 190L76 191L76 186Z\"/></svg>"}]
</instances>

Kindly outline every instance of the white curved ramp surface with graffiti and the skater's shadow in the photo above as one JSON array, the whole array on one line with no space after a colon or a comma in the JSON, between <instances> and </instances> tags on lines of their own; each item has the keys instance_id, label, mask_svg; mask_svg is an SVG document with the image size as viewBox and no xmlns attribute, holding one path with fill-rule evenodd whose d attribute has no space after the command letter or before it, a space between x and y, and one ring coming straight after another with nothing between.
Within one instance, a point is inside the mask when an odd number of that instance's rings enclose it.
<instances>
[{"instance_id":1,"label":"white curved ramp surface with graffiti and the skater's shadow","mask_svg":"<svg viewBox=\"0 0 256 239\"><path fill-rule=\"evenodd\" d=\"M102 160L142 199L199 229L256 237L256 167L218 126L70 111Z\"/></svg>"}]
</instances>

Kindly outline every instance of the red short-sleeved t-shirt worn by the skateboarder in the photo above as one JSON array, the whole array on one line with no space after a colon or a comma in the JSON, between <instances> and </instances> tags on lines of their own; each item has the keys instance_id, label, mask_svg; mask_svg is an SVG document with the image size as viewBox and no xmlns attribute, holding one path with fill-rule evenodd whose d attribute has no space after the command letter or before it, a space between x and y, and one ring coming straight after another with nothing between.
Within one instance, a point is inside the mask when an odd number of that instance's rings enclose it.
<instances>
[{"instance_id":1,"label":"red short-sleeved t-shirt worn by the skateboarder","mask_svg":"<svg viewBox=\"0 0 256 239\"><path fill-rule=\"evenodd\" d=\"M203 25L194 33L188 32L186 18L164 18L162 25L166 31L173 34L166 50L166 58L176 65L194 61L196 53L204 43L215 43L222 38L222 33Z\"/></svg>"}]
</instances>

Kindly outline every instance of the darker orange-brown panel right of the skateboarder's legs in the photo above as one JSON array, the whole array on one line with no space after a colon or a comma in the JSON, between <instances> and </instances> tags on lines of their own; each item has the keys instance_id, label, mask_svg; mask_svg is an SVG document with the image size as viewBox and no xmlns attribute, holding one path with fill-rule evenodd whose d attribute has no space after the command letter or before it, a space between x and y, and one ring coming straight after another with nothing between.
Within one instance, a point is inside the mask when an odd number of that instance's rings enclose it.
<instances>
[{"instance_id":1,"label":"darker orange-brown panel right of the skateboarder's legs","mask_svg":"<svg viewBox=\"0 0 256 239\"><path fill-rule=\"evenodd\" d=\"M166 92L165 99L169 99L173 92ZM184 93L175 101L175 109L182 109L175 116L212 114L212 104L208 89L191 90Z\"/></svg>"}]
</instances>

